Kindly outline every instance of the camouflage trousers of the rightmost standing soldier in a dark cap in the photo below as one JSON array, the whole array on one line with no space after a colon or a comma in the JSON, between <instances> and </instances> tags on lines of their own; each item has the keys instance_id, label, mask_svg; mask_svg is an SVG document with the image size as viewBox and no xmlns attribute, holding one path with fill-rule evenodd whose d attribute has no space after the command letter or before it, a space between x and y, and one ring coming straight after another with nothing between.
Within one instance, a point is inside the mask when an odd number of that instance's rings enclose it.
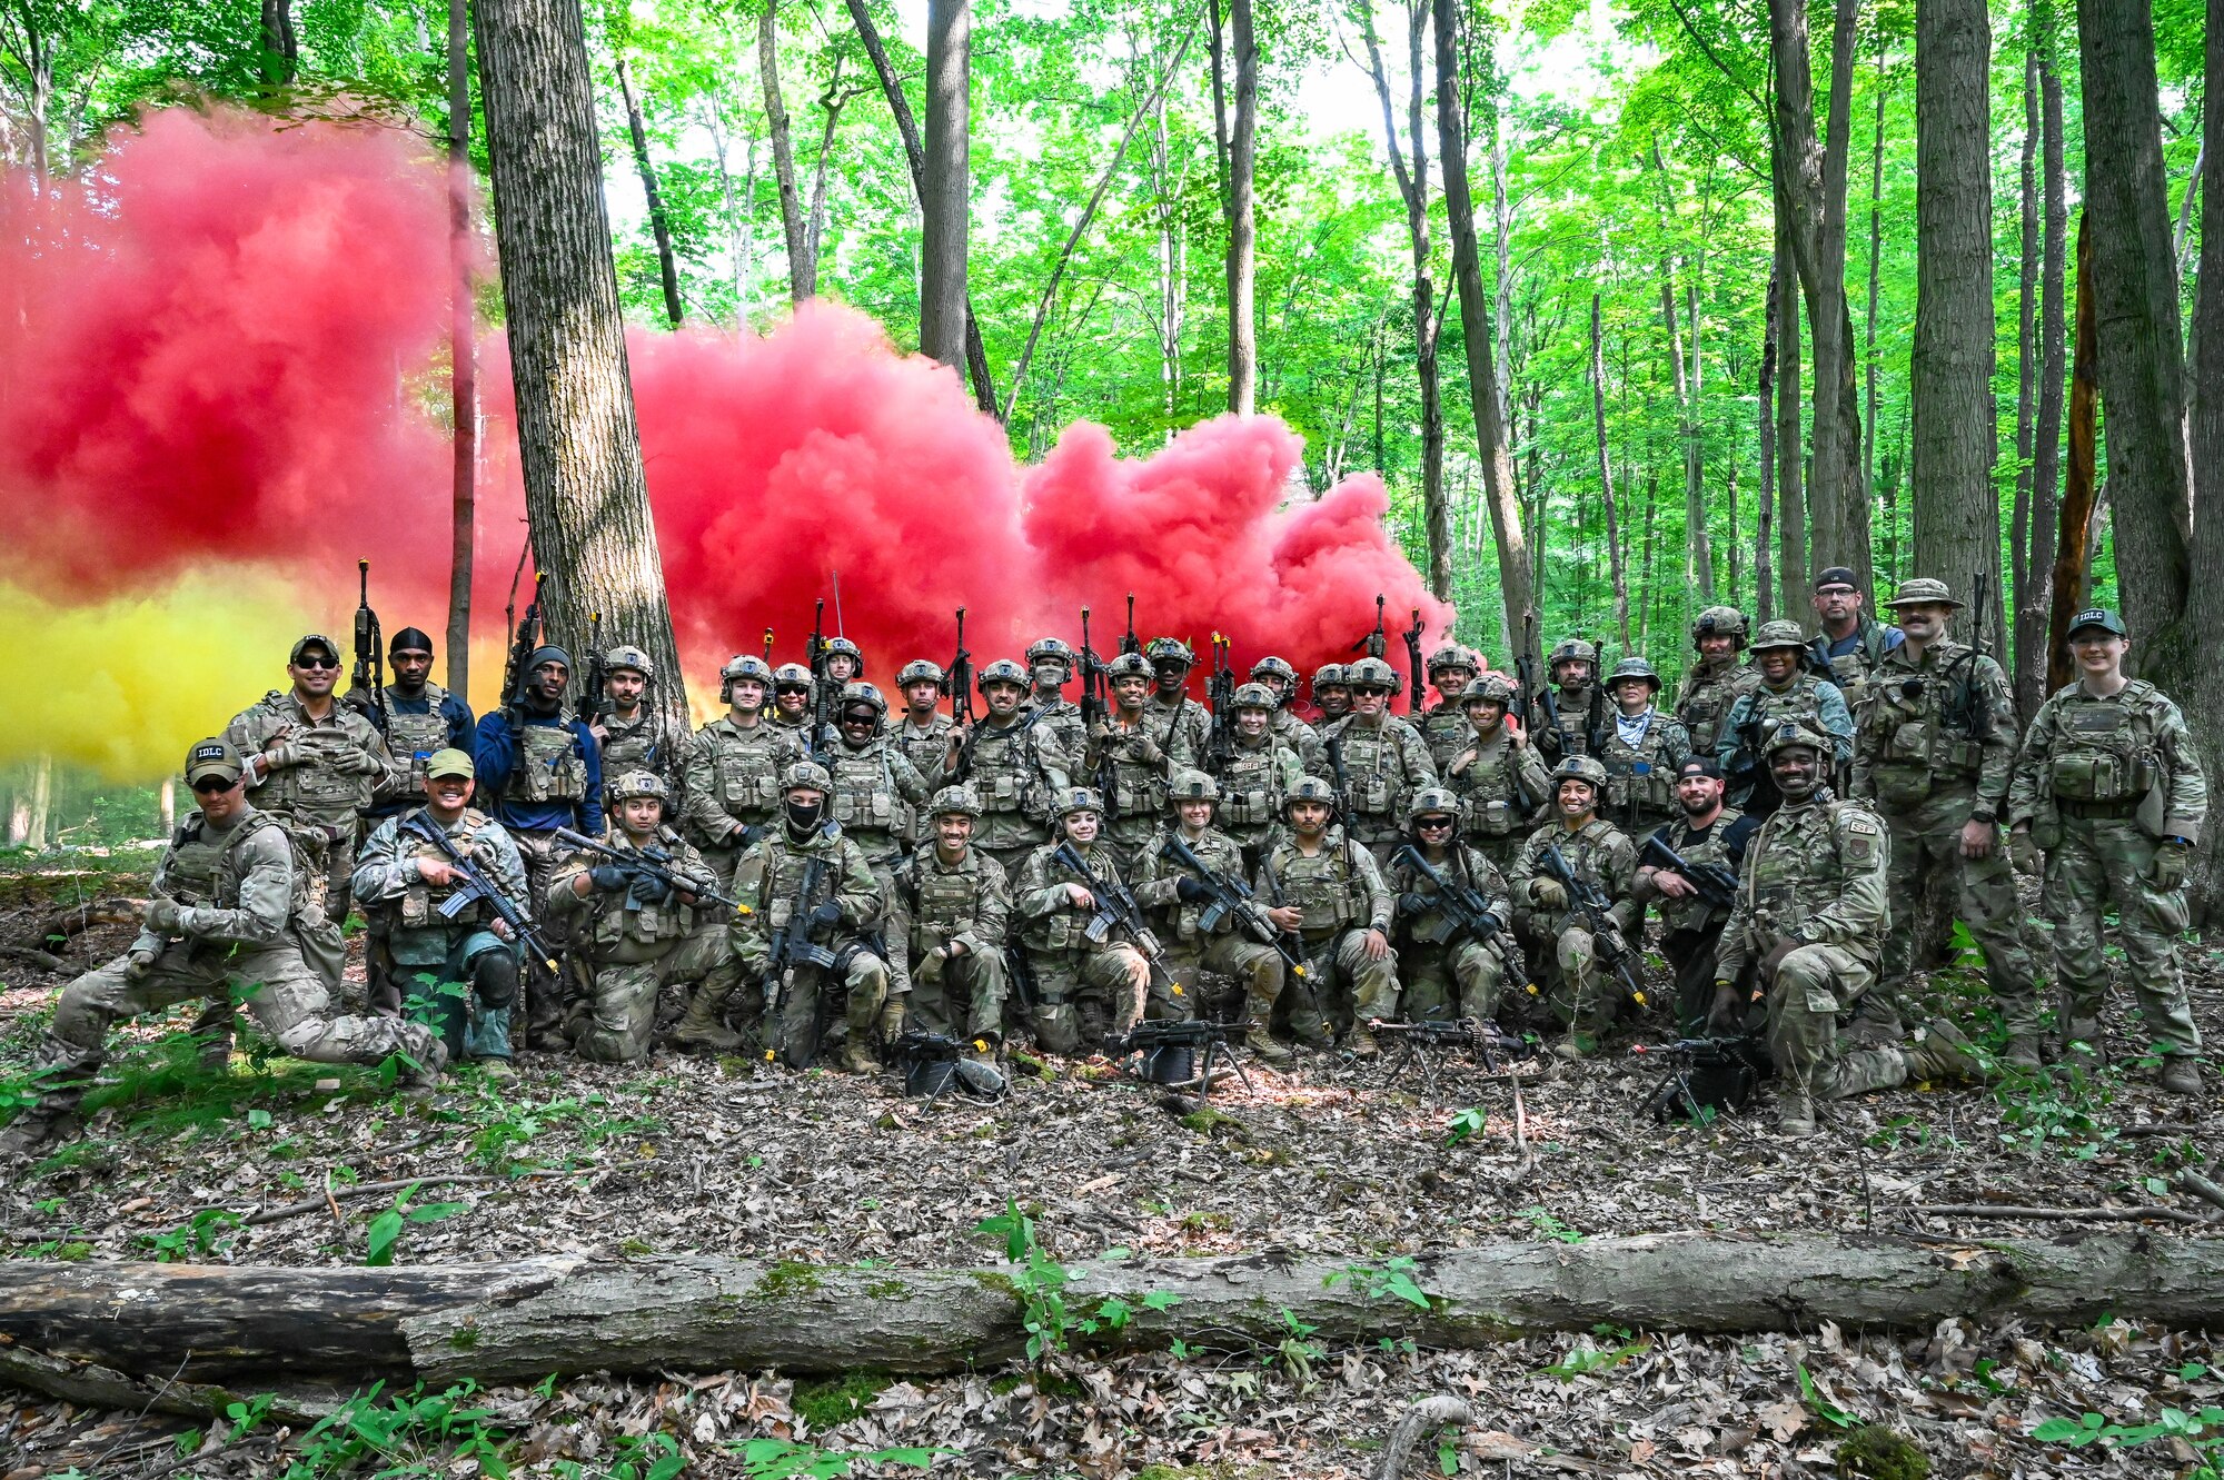
<instances>
[{"instance_id":1,"label":"camouflage trousers of the rightmost standing soldier in a dark cap","mask_svg":"<svg viewBox=\"0 0 2224 1480\"><path fill-rule=\"evenodd\" d=\"M2046 918L2055 922L2055 976L2062 1029L2097 1042L2108 996L2102 913L2113 904L2131 958L2139 1018L2162 1053L2200 1053L2202 1031L2186 1004L2175 936L2186 929L2186 896L2148 880L2155 840L2131 818L2062 818L2062 842L2046 856ZM2093 1027L2086 1027L2093 1024Z\"/></svg>"}]
</instances>

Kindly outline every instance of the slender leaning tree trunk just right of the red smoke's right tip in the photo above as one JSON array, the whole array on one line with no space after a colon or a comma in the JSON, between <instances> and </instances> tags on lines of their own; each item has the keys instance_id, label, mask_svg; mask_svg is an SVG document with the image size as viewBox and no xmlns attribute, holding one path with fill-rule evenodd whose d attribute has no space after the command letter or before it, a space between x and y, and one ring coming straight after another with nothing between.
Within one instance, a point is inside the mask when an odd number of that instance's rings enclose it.
<instances>
[{"instance_id":1,"label":"slender leaning tree trunk just right of the red smoke's right tip","mask_svg":"<svg viewBox=\"0 0 2224 1480\"><path fill-rule=\"evenodd\" d=\"M1506 631L1523 631L1532 609L1528 538L1521 531L1521 496L1506 447L1499 407L1499 364L1492 353L1490 313L1483 307L1483 262L1475 240L1475 196L1468 189L1468 124L1459 100L1459 4L1437 7L1437 156L1443 160L1443 211L1452 233L1452 280L1459 287L1459 329L1468 351L1468 407L1475 411L1475 451L1483 467L1483 502L1499 556L1499 609ZM1541 653L1528 653L1541 658Z\"/></svg>"}]
</instances>

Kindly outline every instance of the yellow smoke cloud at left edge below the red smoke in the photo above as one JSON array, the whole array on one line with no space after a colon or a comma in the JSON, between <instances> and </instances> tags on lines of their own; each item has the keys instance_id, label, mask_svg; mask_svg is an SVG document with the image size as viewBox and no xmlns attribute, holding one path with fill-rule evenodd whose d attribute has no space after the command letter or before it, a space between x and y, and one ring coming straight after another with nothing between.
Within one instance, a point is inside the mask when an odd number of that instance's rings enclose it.
<instances>
[{"instance_id":1,"label":"yellow smoke cloud at left edge below the red smoke","mask_svg":"<svg viewBox=\"0 0 2224 1480\"><path fill-rule=\"evenodd\" d=\"M0 764L44 753L116 782L160 780L193 740L282 687L287 649L314 629L260 573L187 576L96 604L0 584ZM322 631L345 649L347 631Z\"/></svg>"}]
</instances>

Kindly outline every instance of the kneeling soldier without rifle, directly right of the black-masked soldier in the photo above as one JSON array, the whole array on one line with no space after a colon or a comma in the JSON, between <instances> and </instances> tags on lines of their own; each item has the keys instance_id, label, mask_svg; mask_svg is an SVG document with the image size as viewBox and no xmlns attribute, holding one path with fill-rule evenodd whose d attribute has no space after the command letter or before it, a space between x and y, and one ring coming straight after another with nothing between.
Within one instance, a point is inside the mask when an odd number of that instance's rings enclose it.
<instances>
[{"instance_id":1,"label":"kneeling soldier without rifle, directly right of the black-masked soldier","mask_svg":"<svg viewBox=\"0 0 2224 1480\"><path fill-rule=\"evenodd\" d=\"M934 840L896 864L890 944L910 953L912 1027L970 1038L970 1058L990 1064L1003 1044L1012 884L994 858L972 847L981 798L970 787L936 791L927 816Z\"/></svg>"}]
</instances>

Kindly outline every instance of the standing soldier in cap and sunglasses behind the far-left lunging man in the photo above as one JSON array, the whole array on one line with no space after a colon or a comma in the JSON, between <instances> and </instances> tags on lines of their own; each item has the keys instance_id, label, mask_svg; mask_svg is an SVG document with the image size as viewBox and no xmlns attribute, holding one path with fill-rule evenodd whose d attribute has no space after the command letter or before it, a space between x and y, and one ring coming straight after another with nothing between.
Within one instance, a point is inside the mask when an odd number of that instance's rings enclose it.
<instances>
[{"instance_id":1,"label":"standing soldier in cap and sunglasses behind the far-left lunging man","mask_svg":"<svg viewBox=\"0 0 2224 1480\"><path fill-rule=\"evenodd\" d=\"M287 658L291 689L271 689L231 718L225 738L247 758L247 793L256 811L278 822L300 849L309 878L300 927L300 953L340 991L347 947L347 876L356 867L363 811L371 796L394 791L398 771L385 736L349 704L331 698L340 682L340 649L331 638L309 633ZM222 1024L207 1022L222 1013ZM227 1033L231 1009L211 1002L196 1031Z\"/></svg>"}]
</instances>

